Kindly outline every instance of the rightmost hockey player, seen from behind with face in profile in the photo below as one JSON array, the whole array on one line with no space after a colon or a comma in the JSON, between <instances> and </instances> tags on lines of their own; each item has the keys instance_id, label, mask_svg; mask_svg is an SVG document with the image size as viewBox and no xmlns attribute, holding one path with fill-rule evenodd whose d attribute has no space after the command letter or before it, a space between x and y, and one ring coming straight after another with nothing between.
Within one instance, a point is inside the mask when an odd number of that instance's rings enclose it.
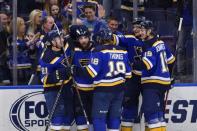
<instances>
[{"instance_id":1,"label":"rightmost hockey player, seen from behind with face in profile","mask_svg":"<svg viewBox=\"0 0 197 131\"><path fill-rule=\"evenodd\" d=\"M134 67L142 68L142 109L147 131L166 131L164 119L164 95L170 89L170 69L175 57L166 44L154 33L151 21L141 22L141 39L145 42L142 59Z\"/></svg>"}]
</instances>

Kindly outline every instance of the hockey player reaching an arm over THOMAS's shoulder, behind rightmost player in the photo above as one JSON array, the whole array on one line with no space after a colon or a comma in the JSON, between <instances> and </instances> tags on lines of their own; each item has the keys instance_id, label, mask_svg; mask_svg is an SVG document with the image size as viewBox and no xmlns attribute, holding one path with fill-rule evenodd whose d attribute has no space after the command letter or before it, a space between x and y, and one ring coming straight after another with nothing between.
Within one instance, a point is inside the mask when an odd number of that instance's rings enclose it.
<instances>
[{"instance_id":1,"label":"hockey player reaching an arm over THOMAS's shoulder, behind rightmost player","mask_svg":"<svg viewBox=\"0 0 197 131\"><path fill-rule=\"evenodd\" d=\"M133 21L133 35L115 36L115 43L126 48L131 63L136 59L141 59L143 42L140 40L140 23L142 21L144 21L143 18L137 18ZM127 81L126 89L123 101L121 131L132 131L134 122L138 117L139 95L141 90L140 70L132 70L132 78Z\"/></svg>"}]
</instances>

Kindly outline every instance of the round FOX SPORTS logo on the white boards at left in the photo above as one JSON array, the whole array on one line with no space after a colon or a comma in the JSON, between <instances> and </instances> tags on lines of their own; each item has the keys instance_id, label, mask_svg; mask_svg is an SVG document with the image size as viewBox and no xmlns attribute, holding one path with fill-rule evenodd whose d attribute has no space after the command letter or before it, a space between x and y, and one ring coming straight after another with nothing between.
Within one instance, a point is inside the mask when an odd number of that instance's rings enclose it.
<instances>
[{"instance_id":1,"label":"round FOX SPORTS logo on the white boards at left","mask_svg":"<svg viewBox=\"0 0 197 131\"><path fill-rule=\"evenodd\" d=\"M42 91L28 93L12 104L10 121L19 131L40 129L47 124L47 107L40 95L43 95Z\"/></svg>"}]
</instances>

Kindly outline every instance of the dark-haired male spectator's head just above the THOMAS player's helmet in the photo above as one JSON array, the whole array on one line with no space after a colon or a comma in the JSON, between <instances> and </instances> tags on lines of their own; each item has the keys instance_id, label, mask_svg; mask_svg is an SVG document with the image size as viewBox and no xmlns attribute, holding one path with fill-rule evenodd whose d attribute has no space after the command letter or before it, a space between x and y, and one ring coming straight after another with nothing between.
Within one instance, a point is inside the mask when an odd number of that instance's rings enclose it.
<instances>
[{"instance_id":1,"label":"dark-haired male spectator's head just above the THOMAS player's helmet","mask_svg":"<svg viewBox=\"0 0 197 131\"><path fill-rule=\"evenodd\" d=\"M108 24L108 27L113 32L113 34L116 34L116 35L122 34L120 31L118 31L119 21L116 17L109 17L107 24Z\"/></svg>"}]
</instances>

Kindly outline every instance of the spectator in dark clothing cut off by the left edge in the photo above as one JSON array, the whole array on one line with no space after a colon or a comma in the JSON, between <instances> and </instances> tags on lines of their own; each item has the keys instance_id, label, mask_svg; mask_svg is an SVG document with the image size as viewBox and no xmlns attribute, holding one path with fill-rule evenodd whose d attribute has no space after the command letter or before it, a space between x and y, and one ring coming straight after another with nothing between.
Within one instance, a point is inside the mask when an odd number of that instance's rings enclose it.
<instances>
[{"instance_id":1,"label":"spectator in dark clothing cut off by the left edge","mask_svg":"<svg viewBox=\"0 0 197 131\"><path fill-rule=\"evenodd\" d=\"M7 66L8 36L8 16L5 12L2 12L0 13L0 83L3 84L10 84Z\"/></svg>"}]
</instances>

